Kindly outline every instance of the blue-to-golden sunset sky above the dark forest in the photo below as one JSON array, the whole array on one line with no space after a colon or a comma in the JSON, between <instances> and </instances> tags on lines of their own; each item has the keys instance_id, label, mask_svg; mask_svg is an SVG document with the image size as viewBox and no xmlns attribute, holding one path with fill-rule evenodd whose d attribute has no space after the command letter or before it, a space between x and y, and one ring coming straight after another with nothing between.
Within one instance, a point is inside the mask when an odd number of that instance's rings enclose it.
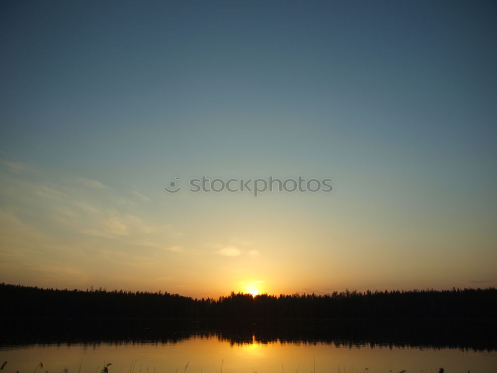
<instances>
[{"instance_id":1,"label":"blue-to-golden sunset sky above the dark forest","mask_svg":"<svg viewBox=\"0 0 497 373\"><path fill-rule=\"evenodd\" d=\"M496 45L495 1L2 1L0 281L497 286Z\"/></svg>"}]
</instances>

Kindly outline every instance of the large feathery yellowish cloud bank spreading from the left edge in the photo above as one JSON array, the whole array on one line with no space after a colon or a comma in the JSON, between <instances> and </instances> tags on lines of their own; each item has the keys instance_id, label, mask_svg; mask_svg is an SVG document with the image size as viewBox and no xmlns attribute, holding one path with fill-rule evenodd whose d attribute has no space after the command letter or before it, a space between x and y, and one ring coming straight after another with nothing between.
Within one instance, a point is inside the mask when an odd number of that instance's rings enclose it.
<instances>
[{"instance_id":1,"label":"large feathery yellowish cloud bank spreading from the left edge","mask_svg":"<svg viewBox=\"0 0 497 373\"><path fill-rule=\"evenodd\" d=\"M134 274L148 283L163 273L164 260L173 266L194 253L134 188L10 160L0 160L0 176L0 271L9 281L89 286L126 283Z\"/></svg>"}]
</instances>

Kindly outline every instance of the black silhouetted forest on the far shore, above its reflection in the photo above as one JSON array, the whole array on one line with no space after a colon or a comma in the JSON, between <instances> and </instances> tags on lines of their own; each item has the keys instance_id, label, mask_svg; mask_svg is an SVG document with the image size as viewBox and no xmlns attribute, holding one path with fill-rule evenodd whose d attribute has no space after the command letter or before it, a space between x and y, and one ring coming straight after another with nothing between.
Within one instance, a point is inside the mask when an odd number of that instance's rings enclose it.
<instances>
[{"instance_id":1,"label":"black silhouetted forest on the far shore, above its reflection","mask_svg":"<svg viewBox=\"0 0 497 373\"><path fill-rule=\"evenodd\" d=\"M334 291L192 298L168 292L51 289L0 284L9 318L492 319L497 289Z\"/></svg>"}]
</instances>

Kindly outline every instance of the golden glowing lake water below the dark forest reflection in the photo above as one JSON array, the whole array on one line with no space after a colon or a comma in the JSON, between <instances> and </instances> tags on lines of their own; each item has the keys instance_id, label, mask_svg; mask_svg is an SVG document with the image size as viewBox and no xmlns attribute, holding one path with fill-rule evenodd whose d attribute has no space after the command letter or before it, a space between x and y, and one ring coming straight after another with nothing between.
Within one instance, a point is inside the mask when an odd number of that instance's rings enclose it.
<instances>
[{"instance_id":1,"label":"golden glowing lake water below the dark forest reflection","mask_svg":"<svg viewBox=\"0 0 497 373\"><path fill-rule=\"evenodd\" d=\"M311 373L311 372L410 372L495 373L496 351L449 348L350 346L302 341L234 343L216 335L189 336L176 342L92 342L4 346L1 362L5 373L99 373L105 363L109 373ZM134 368L133 368L134 367ZM365 370L368 368L368 370ZM352 370L353 369L353 370ZM2 372L2 373L3 373Z\"/></svg>"}]
</instances>

